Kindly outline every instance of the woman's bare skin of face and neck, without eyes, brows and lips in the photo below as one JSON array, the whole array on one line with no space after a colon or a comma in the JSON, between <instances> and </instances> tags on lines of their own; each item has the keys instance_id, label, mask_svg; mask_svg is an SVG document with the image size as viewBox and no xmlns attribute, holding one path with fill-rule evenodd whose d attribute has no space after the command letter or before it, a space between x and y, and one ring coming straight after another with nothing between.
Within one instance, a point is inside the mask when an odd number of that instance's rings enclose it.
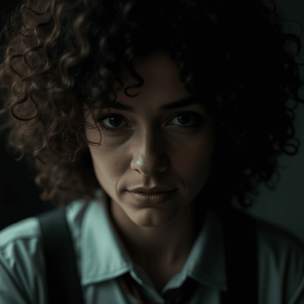
<instances>
[{"instance_id":1,"label":"woman's bare skin of face and neck, without eyes, brows and lips","mask_svg":"<svg viewBox=\"0 0 304 304\"><path fill-rule=\"evenodd\" d=\"M102 144L90 145L89 149L96 178L110 198L109 221L134 263L161 290L181 271L195 241L192 202L208 179L215 133L212 119L201 104L159 112L159 106L190 95L168 54L158 52L136 60L134 67L144 85L127 92L139 94L132 98L124 94L124 88L137 84L124 69L120 75L124 87L116 91L116 101L132 106L134 111L110 108L111 114L124 117L120 129L109 132L99 127ZM117 88L114 84L114 90ZM93 117L84 109L85 121L94 125ZM182 111L201 115L200 128L178 127L183 122L176 116ZM108 114L108 109L103 113ZM112 126L109 119L102 123ZM85 133L88 140L99 143L97 127L85 127ZM147 207L125 191L156 185L177 188L177 195L167 204Z\"/></svg>"}]
</instances>

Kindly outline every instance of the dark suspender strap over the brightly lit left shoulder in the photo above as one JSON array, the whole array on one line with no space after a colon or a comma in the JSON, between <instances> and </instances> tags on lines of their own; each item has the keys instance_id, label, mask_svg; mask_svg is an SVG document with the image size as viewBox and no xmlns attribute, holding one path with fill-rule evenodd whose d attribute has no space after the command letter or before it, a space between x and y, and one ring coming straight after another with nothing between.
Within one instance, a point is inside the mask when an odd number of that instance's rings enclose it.
<instances>
[{"instance_id":1,"label":"dark suspender strap over the brightly lit left shoulder","mask_svg":"<svg viewBox=\"0 0 304 304\"><path fill-rule=\"evenodd\" d=\"M56 208L37 217L42 231L48 303L83 304L65 212Z\"/></svg>"}]
</instances>

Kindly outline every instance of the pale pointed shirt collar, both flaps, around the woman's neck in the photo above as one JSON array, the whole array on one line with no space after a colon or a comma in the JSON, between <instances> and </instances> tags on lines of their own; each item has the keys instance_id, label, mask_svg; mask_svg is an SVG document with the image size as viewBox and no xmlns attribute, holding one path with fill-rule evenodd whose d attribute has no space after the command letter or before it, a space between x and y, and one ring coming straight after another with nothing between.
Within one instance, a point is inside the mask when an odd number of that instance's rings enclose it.
<instances>
[{"instance_id":1,"label":"pale pointed shirt collar, both flaps, around the woman's neck","mask_svg":"<svg viewBox=\"0 0 304 304\"><path fill-rule=\"evenodd\" d=\"M102 282L134 271L133 262L108 219L105 196L89 203L79 222L79 254L81 285ZM78 208L73 205L78 204ZM75 227L81 212L79 201L71 203L67 217ZM74 210L74 212L73 212ZM77 210L77 211L75 211ZM77 226L77 225L76 225ZM226 291L226 265L221 221L209 210L205 223L196 238L183 270L169 282L187 276L212 288Z\"/></svg>"}]
</instances>

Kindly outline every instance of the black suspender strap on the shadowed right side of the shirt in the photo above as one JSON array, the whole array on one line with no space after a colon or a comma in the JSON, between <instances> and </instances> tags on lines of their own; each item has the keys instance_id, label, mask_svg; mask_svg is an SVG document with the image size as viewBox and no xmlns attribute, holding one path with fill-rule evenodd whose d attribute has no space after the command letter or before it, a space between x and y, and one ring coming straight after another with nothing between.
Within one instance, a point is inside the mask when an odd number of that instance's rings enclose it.
<instances>
[{"instance_id":1,"label":"black suspender strap on the shadowed right side of the shirt","mask_svg":"<svg viewBox=\"0 0 304 304\"><path fill-rule=\"evenodd\" d=\"M256 221L234 208L220 217L228 287L228 292L222 292L222 304L257 304Z\"/></svg>"}]
</instances>

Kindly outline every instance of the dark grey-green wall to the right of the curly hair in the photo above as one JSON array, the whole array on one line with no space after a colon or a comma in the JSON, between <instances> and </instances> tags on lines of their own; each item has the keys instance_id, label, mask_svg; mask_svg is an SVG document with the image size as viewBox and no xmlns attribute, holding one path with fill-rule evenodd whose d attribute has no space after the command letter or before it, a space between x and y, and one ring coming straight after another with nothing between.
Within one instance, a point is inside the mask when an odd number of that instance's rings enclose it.
<instances>
[{"instance_id":1,"label":"dark grey-green wall to the right of the curly hair","mask_svg":"<svg viewBox=\"0 0 304 304\"><path fill-rule=\"evenodd\" d=\"M275 0L275 3L279 6L278 12L282 19L296 20L303 27L300 38L302 49L296 61L304 63L304 1ZM287 22L285 33L288 32L299 37L301 26L297 22ZM292 49L295 50L295 47ZM300 66L299 69L303 80L304 66ZM304 88L300 97L304 99ZM278 163L285 168L278 169L281 180L276 190L272 192L262 183L259 188L260 195L257 196L254 206L248 210L248 213L255 218L276 224L304 241L304 104L298 105L295 115L295 136L300 140L298 154L295 156L284 154L278 159Z\"/></svg>"}]
</instances>

